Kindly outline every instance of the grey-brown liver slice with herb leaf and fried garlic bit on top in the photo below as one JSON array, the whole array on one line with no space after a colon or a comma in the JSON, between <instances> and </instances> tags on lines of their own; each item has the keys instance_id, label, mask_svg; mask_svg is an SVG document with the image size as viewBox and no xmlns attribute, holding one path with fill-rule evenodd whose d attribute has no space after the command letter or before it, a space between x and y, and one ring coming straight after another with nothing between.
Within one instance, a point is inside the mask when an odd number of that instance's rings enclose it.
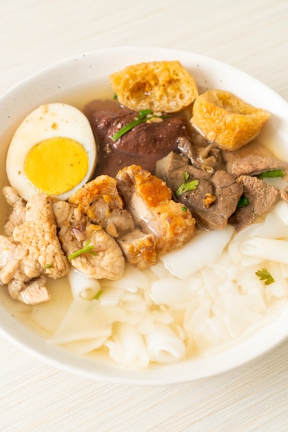
<instances>
[{"instance_id":1,"label":"grey-brown liver slice with herb leaf and fried garlic bit on top","mask_svg":"<svg viewBox=\"0 0 288 432\"><path fill-rule=\"evenodd\" d=\"M222 229L227 225L243 193L242 184L227 171L217 170L212 175L189 165L187 158L174 152L158 161L156 173L167 181L174 195L185 182L184 173L189 177L186 181L198 181L194 190L187 190L176 199L185 204L198 224L207 230Z\"/></svg>"}]
</instances>

